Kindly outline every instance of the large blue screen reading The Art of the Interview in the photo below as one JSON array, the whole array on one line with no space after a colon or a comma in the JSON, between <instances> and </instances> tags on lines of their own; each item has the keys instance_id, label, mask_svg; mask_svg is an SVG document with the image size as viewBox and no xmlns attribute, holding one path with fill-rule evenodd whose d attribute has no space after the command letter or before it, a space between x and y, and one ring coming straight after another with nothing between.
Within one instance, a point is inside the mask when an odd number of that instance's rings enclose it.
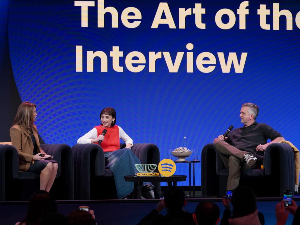
<instances>
[{"instance_id":1,"label":"large blue screen reading The Art of the Interview","mask_svg":"<svg viewBox=\"0 0 300 225\"><path fill-rule=\"evenodd\" d=\"M72 147L113 107L117 125L161 159L183 137L201 152L241 127L241 104L253 102L257 122L300 146L299 11L282 0L15 0L13 74L22 101L37 104L45 143Z\"/></svg>"}]
</instances>

